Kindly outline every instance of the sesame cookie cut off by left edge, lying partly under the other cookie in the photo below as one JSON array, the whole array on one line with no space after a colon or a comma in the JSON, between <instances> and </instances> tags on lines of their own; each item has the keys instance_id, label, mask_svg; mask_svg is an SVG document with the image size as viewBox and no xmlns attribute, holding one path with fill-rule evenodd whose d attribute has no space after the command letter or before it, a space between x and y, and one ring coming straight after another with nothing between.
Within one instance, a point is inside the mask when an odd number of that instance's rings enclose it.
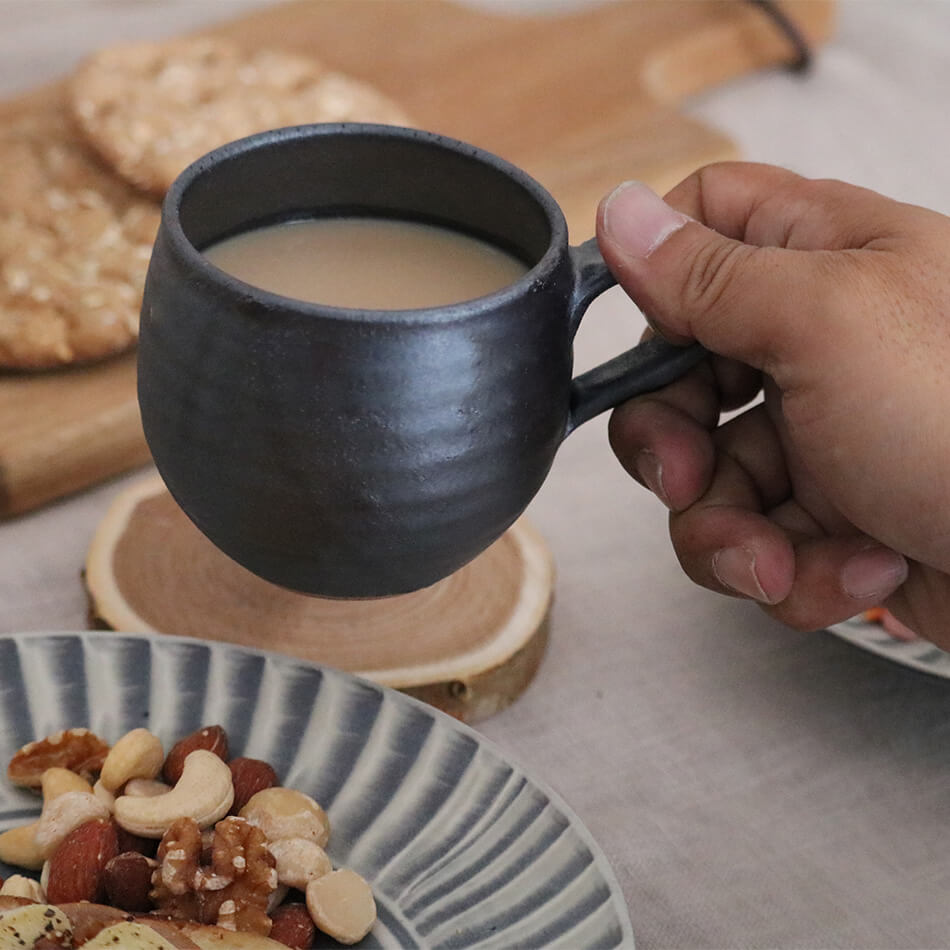
<instances>
[{"instance_id":1,"label":"sesame cookie cut off by left edge, lying partly under the other cookie","mask_svg":"<svg viewBox=\"0 0 950 950\"><path fill-rule=\"evenodd\" d=\"M158 206L111 174L66 113L0 130L0 367L103 359L138 338Z\"/></svg>"}]
</instances>

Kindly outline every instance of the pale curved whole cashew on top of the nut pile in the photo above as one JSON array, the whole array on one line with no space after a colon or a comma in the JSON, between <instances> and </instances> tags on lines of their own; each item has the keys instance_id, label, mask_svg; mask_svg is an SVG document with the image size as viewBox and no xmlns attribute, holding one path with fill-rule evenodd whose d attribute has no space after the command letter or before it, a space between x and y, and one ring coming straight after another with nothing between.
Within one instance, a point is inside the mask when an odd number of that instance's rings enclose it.
<instances>
[{"instance_id":1,"label":"pale curved whole cashew on top of the nut pile","mask_svg":"<svg viewBox=\"0 0 950 950\"><path fill-rule=\"evenodd\" d=\"M193 818L201 828L223 818L234 801L231 770L213 752L196 749L185 759L178 784L151 798L120 795L115 819L143 838L161 838L178 818Z\"/></svg>"}]
</instances>

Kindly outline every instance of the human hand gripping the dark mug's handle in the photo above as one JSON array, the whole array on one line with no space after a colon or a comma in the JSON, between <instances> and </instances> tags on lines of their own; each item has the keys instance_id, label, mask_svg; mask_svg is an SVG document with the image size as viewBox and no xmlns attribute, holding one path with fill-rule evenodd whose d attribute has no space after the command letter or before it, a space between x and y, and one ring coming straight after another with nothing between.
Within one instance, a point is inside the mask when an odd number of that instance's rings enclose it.
<instances>
[{"instance_id":1,"label":"human hand gripping the dark mug's handle","mask_svg":"<svg viewBox=\"0 0 950 950\"><path fill-rule=\"evenodd\" d=\"M884 604L950 649L950 218L727 163L666 203L620 186L598 238L657 332L716 354L610 421L686 573L799 629Z\"/></svg>"}]
</instances>

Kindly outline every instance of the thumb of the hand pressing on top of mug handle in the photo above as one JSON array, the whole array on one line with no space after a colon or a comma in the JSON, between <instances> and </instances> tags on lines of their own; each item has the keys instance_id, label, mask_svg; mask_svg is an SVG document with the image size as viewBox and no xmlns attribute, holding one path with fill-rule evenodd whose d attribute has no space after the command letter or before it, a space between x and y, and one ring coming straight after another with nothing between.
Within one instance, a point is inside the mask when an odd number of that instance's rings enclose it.
<instances>
[{"instance_id":1,"label":"thumb of the hand pressing on top of mug handle","mask_svg":"<svg viewBox=\"0 0 950 950\"><path fill-rule=\"evenodd\" d=\"M829 296L829 252L732 240L639 182L601 202L597 237L618 283L671 342L695 339L766 370L806 356L811 317Z\"/></svg>"}]
</instances>

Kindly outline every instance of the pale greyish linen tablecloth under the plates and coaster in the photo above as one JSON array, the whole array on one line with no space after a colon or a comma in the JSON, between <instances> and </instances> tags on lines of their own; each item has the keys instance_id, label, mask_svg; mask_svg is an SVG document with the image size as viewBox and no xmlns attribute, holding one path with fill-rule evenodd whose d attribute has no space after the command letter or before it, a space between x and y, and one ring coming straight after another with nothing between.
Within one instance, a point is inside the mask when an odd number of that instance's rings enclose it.
<instances>
[{"instance_id":1,"label":"pale greyish linen tablecloth under the plates and coaster","mask_svg":"<svg viewBox=\"0 0 950 950\"><path fill-rule=\"evenodd\" d=\"M0 95L254 5L0 2ZM745 78L689 109L746 158L950 213L948 88L950 3L844 0L807 76ZM610 292L578 367L641 326ZM567 440L531 506L558 564L551 644L480 728L589 827L643 950L950 946L950 682L693 587L605 428ZM84 628L86 547L138 474L0 523L0 630Z\"/></svg>"}]
</instances>

